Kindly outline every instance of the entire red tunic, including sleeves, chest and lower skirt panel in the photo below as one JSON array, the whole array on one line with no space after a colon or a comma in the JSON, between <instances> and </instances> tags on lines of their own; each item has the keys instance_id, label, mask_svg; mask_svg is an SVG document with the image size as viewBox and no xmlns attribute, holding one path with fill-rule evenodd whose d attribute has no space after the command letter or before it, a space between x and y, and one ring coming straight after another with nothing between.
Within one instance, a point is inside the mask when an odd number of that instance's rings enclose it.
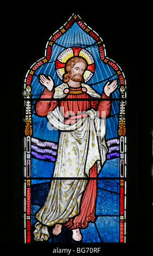
<instances>
[{"instance_id":1,"label":"entire red tunic, including sleeves, chest and lower skirt panel","mask_svg":"<svg viewBox=\"0 0 153 256\"><path fill-rule=\"evenodd\" d=\"M80 88L74 89L70 88L71 91L75 92L78 90L81 90ZM49 92L49 90L44 89L40 99L47 99L52 98L54 94L54 91ZM67 100L63 101L62 99L60 101L38 101L36 104L36 112L40 116L47 115L50 111L52 111L59 103L61 108L61 112L65 118L67 118L69 115L73 116L79 113L82 113L84 111L87 111L88 109L95 109L95 111L99 111L99 117L100 118L107 118L110 114L110 108L111 108L111 101L103 101L103 99L110 99L110 97L107 97L104 93L101 95L101 101L92 101L92 97L88 95L87 93L81 93L81 94L68 94L66 96L66 99L76 99L75 100ZM77 101L77 99L82 99L82 101ZM84 99L89 99L85 100ZM97 163L94 164L94 166L90 169L90 177L97 177ZM95 219L95 200L96 200L96 194L97 194L97 180L89 180L86 190L84 192L84 195L82 197L81 202L81 208L80 213L77 216L74 216L71 218L65 225L69 229L74 228L86 228L88 225L88 222L94 221Z\"/></svg>"}]
</instances>

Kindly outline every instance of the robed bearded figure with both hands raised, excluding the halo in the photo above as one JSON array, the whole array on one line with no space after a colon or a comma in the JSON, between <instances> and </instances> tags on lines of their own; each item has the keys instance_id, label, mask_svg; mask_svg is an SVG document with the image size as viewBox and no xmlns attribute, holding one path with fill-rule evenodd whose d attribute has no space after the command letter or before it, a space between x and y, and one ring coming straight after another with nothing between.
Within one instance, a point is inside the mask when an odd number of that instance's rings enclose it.
<instances>
[{"instance_id":1,"label":"robed bearded figure with both hands raised, excluding the halo","mask_svg":"<svg viewBox=\"0 0 153 256\"><path fill-rule=\"evenodd\" d=\"M95 118L101 122L109 117L111 94L116 90L118 83L117 80L107 82L103 93L99 95L100 100L92 100L98 94L85 84L84 72L87 66L85 58L70 58L65 65L62 84L57 88L52 77L42 74L39 78L44 90L36 104L36 112L41 117L50 117L50 123L52 120L56 123L54 119L57 115L61 115L63 128L60 131L58 156L53 175L56 179L52 180L46 202L35 216L37 219L35 240L47 240L49 226L53 226L54 235L59 235L62 226L65 225L72 230L72 238L80 241L82 239L80 229L86 228L88 222L93 222L95 219L97 180L90 178L97 177L99 163L105 161L107 151L104 142L105 132L103 145L96 137ZM56 100L58 96L55 95L59 92L62 92L67 100ZM98 113L98 117L95 113ZM84 119L83 124L82 119ZM77 121L82 125L78 130L74 130ZM105 131L104 122L100 124L100 129ZM90 132L91 126L92 132ZM85 179L87 176L89 179ZM72 178L60 180L60 177Z\"/></svg>"}]
</instances>

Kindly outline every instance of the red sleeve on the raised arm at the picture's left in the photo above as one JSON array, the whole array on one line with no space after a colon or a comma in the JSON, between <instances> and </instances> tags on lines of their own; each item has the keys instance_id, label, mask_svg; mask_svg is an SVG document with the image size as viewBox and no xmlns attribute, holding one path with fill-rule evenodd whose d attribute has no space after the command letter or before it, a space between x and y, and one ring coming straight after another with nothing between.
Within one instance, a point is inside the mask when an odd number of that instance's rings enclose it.
<instances>
[{"instance_id":1,"label":"red sleeve on the raised arm at the picture's left","mask_svg":"<svg viewBox=\"0 0 153 256\"><path fill-rule=\"evenodd\" d=\"M54 90L50 92L46 88L43 90L43 93L40 99L51 99L53 97ZM58 101L54 100L39 100L36 103L36 112L38 115L43 117L47 115L50 111L52 111L58 105Z\"/></svg>"}]
</instances>

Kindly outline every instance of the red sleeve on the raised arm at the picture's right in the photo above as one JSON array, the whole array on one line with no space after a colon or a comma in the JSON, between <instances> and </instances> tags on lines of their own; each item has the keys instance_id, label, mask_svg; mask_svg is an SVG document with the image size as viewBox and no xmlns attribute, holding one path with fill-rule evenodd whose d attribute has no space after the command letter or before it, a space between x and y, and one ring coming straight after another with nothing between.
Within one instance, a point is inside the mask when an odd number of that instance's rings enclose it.
<instances>
[{"instance_id":1,"label":"red sleeve on the raised arm at the picture's right","mask_svg":"<svg viewBox=\"0 0 153 256\"><path fill-rule=\"evenodd\" d=\"M103 99L111 99L111 97L108 97L103 92L101 95L101 101L92 101L91 106L92 108L96 109L98 111L100 118L107 118L109 117L110 111L111 111L111 100L103 100Z\"/></svg>"}]
</instances>

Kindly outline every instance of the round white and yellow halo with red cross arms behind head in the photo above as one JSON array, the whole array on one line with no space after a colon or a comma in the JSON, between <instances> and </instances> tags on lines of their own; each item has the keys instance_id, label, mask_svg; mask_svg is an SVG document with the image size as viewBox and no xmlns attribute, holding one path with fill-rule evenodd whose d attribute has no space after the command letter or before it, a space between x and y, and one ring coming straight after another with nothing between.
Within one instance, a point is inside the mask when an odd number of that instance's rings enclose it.
<instances>
[{"instance_id":1,"label":"round white and yellow halo with red cross arms behind head","mask_svg":"<svg viewBox=\"0 0 153 256\"><path fill-rule=\"evenodd\" d=\"M58 56L55 63L55 69L59 78L62 80L62 76L65 74L65 64L67 60L72 57L82 57L86 59L88 67L84 72L84 80L85 82L89 81L94 74L95 62L90 52L78 46L67 48Z\"/></svg>"}]
</instances>

